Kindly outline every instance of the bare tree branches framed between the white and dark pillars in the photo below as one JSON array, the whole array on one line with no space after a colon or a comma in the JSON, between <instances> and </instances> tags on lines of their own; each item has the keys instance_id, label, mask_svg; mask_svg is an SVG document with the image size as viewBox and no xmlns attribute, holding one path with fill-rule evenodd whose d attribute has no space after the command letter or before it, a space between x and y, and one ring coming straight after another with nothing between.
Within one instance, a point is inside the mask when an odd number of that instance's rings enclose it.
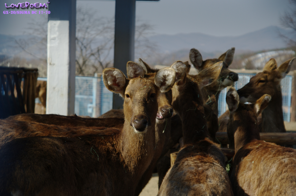
<instances>
[{"instance_id":1,"label":"bare tree branches framed between the white and dark pillars","mask_svg":"<svg viewBox=\"0 0 296 196\"><path fill-rule=\"evenodd\" d=\"M93 75L112 66L114 19L94 16L94 10L77 8L76 75Z\"/></svg>"}]
</instances>

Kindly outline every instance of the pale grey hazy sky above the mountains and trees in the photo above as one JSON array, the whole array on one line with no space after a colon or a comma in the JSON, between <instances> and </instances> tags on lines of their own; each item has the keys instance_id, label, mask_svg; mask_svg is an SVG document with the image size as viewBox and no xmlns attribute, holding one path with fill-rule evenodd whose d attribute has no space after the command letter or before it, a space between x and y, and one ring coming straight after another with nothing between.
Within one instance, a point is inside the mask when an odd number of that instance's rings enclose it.
<instances>
[{"instance_id":1,"label":"pale grey hazy sky above the mountains and trees","mask_svg":"<svg viewBox=\"0 0 296 196\"><path fill-rule=\"evenodd\" d=\"M45 3L46 1L29 1ZM3 14L5 4L23 0L0 0L0 34L21 35L39 14ZM98 16L114 17L115 1L77 1L94 9ZM289 10L288 0L160 0L137 1L136 17L153 25L156 34L201 32L215 36L235 36L280 26L279 17Z\"/></svg>"}]
</instances>

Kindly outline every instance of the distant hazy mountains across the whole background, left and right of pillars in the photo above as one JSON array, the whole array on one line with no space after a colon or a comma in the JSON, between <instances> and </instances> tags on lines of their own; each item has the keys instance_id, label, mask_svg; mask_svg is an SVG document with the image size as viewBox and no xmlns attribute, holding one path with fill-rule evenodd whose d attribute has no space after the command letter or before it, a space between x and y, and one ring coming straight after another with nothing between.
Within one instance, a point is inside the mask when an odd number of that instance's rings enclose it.
<instances>
[{"instance_id":1,"label":"distant hazy mountains across the whole background, left and right of pillars","mask_svg":"<svg viewBox=\"0 0 296 196\"><path fill-rule=\"evenodd\" d=\"M214 58L224 53L231 47L236 48L236 54L239 51L260 51L271 50L277 48L285 48L286 43L279 36L279 32L289 37L289 31L276 26L266 27L264 29L250 32L240 36L223 36L217 37L205 35L202 33L180 33L176 35L154 35L148 37L149 41L157 44L159 53L166 55L168 59L188 58L189 50L196 48L200 50L203 58ZM0 55L12 57L17 55L24 58L32 58L31 55L25 53L16 43L15 40L40 40L41 37L33 35L9 36L0 34ZM94 40L93 45L100 40ZM37 56L46 55L46 46L29 44L27 48L35 48L34 54ZM42 50L40 48L44 47ZM113 50L110 51L109 57L113 58ZM144 58L141 56L141 58ZM185 60L185 59L184 59Z\"/></svg>"}]
</instances>

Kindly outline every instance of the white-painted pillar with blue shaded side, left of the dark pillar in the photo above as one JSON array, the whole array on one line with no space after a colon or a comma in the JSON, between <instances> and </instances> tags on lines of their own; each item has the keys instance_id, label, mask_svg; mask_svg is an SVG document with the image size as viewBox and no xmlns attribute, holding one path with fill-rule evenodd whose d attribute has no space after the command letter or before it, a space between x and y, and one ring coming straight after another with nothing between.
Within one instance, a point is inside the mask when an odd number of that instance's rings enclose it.
<instances>
[{"instance_id":1,"label":"white-painted pillar with blue shaded side, left of the dark pillar","mask_svg":"<svg viewBox=\"0 0 296 196\"><path fill-rule=\"evenodd\" d=\"M75 102L76 0L50 1L46 114L72 115Z\"/></svg>"}]
</instances>

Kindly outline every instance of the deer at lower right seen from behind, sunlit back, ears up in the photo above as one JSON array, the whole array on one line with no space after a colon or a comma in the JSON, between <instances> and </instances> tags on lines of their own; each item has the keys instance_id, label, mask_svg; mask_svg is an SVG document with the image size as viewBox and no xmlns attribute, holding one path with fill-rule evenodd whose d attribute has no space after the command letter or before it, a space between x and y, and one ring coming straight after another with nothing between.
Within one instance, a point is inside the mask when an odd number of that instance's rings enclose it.
<instances>
[{"instance_id":1,"label":"deer at lower right seen from behind, sunlit back, ears up","mask_svg":"<svg viewBox=\"0 0 296 196\"><path fill-rule=\"evenodd\" d=\"M234 88L227 92L228 132L235 139L231 172L234 195L292 196L296 193L296 151L260 140L257 117L271 100L271 96L265 94L255 104L243 104Z\"/></svg>"}]
</instances>

